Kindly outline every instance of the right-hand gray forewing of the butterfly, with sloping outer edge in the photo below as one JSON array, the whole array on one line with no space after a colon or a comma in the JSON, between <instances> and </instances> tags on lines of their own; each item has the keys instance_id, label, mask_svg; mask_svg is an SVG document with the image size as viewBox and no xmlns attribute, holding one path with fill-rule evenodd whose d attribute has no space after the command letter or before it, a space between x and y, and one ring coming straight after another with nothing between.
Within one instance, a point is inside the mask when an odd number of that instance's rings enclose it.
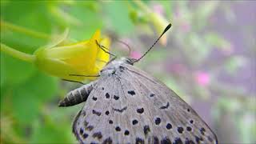
<instances>
[{"instance_id":1,"label":"right-hand gray forewing of the butterfly, with sloping outer edge","mask_svg":"<svg viewBox=\"0 0 256 144\"><path fill-rule=\"evenodd\" d=\"M121 81L133 86L126 85L124 90L134 89L142 97L137 106L143 107L150 119L151 137L162 142L218 143L210 127L173 90L142 70L124 65L127 70Z\"/></svg>"}]
</instances>

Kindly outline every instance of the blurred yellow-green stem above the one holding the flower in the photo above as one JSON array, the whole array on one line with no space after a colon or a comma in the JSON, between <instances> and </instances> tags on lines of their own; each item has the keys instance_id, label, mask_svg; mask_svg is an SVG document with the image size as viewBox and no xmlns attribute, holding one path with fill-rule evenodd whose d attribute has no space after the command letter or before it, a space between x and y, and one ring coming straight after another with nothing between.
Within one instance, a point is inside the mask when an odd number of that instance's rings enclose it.
<instances>
[{"instance_id":1,"label":"blurred yellow-green stem above the one holding the flower","mask_svg":"<svg viewBox=\"0 0 256 144\"><path fill-rule=\"evenodd\" d=\"M35 38L50 39L50 35L48 34L44 34L34 30L29 30L22 26L16 26L10 22L0 21L0 25L3 26L3 28L14 30L22 34L27 34Z\"/></svg>"}]
</instances>

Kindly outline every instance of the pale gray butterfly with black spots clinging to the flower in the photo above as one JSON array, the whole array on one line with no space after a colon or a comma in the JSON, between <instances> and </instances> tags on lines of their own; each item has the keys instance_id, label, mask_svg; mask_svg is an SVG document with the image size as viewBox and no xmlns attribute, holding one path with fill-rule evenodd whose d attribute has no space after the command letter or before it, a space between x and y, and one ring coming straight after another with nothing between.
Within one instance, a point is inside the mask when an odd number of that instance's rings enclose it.
<instances>
[{"instance_id":1,"label":"pale gray butterfly with black spots clinging to the flower","mask_svg":"<svg viewBox=\"0 0 256 144\"><path fill-rule=\"evenodd\" d=\"M214 132L182 98L133 66L139 59L112 59L97 80L70 91L60 102L59 106L86 102L74 118L73 133L78 141L218 143Z\"/></svg>"}]
</instances>

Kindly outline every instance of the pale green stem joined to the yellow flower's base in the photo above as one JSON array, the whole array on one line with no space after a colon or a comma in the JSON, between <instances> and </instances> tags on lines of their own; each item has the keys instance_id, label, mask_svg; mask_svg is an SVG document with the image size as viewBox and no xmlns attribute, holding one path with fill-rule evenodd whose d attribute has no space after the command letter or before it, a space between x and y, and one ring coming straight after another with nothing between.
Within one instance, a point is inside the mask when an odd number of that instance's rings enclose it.
<instances>
[{"instance_id":1,"label":"pale green stem joined to the yellow flower's base","mask_svg":"<svg viewBox=\"0 0 256 144\"><path fill-rule=\"evenodd\" d=\"M13 48L11 48L9 46L6 46L5 44L2 44L2 43L1 43L0 49L4 53L10 54L14 58L19 58L19 59L22 59L23 61L26 61L26 62L31 62L32 63L35 60L34 55L26 54L26 53L22 53L18 50L14 50Z\"/></svg>"}]
</instances>

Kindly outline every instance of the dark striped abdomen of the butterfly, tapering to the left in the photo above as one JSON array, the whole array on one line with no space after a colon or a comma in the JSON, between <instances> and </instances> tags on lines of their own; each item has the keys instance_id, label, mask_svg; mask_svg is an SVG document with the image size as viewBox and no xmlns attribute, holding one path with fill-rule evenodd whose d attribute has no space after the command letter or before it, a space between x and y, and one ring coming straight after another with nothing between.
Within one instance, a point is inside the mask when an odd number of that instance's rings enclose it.
<instances>
[{"instance_id":1,"label":"dark striped abdomen of the butterfly, tapering to the left","mask_svg":"<svg viewBox=\"0 0 256 144\"><path fill-rule=\"evenodd\" d=\"M70 93L66 95L66 98L59 102L58 106L74 106L81 102L86 102L86 99L88 98L90 91L94 89L95 84L96 82L90 82L87 85L83 85L78 89L70 91Z\"/></svg>"}]
</instances>

